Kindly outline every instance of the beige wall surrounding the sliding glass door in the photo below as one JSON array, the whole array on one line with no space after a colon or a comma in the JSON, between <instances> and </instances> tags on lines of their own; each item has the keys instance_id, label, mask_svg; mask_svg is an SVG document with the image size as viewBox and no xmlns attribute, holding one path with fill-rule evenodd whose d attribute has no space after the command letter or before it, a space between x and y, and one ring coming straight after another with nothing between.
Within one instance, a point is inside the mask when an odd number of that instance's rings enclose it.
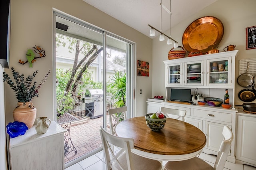
<instances>
[{"instance_id":1,"label":"beige wall surrounding the sliding glass door","mask_svg":"<svg viewBox=\"0 0 256 170\"><path fill-rule=\"evenodd\" d=\"M122 22L106 15L96 8L86 4L82 0L11 0L11 39L10 39L10 67L16 71L24 73L25 76L39 70L35 77L40 82L48 69L53 69L53 8L74 16L80 20L103 28L118 36L131 40L137 45L137 59L148 61L152 64L152 40L138 31L126 26ZM37 59L33 63L33 68L28 64L21 65L19 59L26 61L26 50L34 45L40 45L46 51L46 57ZM136 61L134 62L136 63ZM10 69L5 71L11 75ZM146 99L151 95L150 77L136 77L139 85L136 89L137 115L146 113ZM37 109L37 117L47 116L53 119L53 80L52 74L46 83L39 90L39 97L33 99L33 104ZM142 95L139 95L142 89ZM17 99L9 86L6 86L6 122L13 122L12 111L17 105Z\"/></svg>"}]
</instances>

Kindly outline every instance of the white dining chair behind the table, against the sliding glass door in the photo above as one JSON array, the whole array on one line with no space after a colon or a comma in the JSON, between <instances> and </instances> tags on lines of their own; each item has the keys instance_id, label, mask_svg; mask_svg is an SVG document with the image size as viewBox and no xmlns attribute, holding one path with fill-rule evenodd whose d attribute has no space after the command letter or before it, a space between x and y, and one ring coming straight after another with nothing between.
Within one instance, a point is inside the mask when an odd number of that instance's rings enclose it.
<instances>
[{"instance_id":1,"label":"white dining chair behind the table, against the sliding glass door","mask_svg":"<svg viewBox=\"0 0 256 170\"><path fill-rule=\"evenodd\" d=\"M116 126L127 119L126 116L127 107L118 107L114 109L108 109L109 126L111 134L116 134Z\"/></svg>"}]
</instances>

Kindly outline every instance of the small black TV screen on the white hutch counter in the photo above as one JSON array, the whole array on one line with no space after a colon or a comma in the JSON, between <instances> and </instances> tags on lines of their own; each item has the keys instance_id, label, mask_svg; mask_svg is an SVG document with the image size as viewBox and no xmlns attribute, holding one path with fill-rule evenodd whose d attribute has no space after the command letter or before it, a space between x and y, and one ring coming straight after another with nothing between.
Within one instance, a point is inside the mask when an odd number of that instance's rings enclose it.
<instances>
[{"instance_id":1,"label":"small black TV screen on the white hutch counter","mask_svg":"<svg viewBox=\"0 0 256 170\"><path fill-rule=\"evenodd\" d=\"M171 100L191 101L191 89L171 89Z\"/></svg>"}]
</instances>

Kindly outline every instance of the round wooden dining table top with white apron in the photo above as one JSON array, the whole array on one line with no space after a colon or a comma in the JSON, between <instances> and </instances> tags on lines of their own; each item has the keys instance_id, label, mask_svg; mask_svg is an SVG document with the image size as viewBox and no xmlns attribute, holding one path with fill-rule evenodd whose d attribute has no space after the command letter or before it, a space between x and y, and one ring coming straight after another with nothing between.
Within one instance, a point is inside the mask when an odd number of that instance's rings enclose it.
<instances>
[{"instance_id":1,"label":"round wooden dining table top with white apron","mask_svg":"<svg viewBox=\"0 0 256 170\"><path fill-rule=\"evenodd\" d=\"M206 136L200 129L171 118L166 119L165 127L159 131L151 130L145 117L127 119L116 126L116 135L134 139L133 153L160 161L193 158L206 144Z\"/></svg>"}]
</instances>

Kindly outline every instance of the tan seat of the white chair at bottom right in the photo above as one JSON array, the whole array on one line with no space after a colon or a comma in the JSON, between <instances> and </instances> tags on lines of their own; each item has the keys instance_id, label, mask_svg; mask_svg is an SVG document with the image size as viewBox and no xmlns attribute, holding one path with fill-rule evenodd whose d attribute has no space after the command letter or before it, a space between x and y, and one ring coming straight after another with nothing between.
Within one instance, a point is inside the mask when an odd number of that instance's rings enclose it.
<instances>
[{"instance_id":1,"label":"tan seat of the white chair at bottom right","mask_svg":"<svg viewBox=\"0 0 256 170\"><path fill-rule=\"evenodd\" d=\"M204 160L194 157L183 161L169 161L164 166L166 170L213 170Z\"/></svg>"}]
</instances>

